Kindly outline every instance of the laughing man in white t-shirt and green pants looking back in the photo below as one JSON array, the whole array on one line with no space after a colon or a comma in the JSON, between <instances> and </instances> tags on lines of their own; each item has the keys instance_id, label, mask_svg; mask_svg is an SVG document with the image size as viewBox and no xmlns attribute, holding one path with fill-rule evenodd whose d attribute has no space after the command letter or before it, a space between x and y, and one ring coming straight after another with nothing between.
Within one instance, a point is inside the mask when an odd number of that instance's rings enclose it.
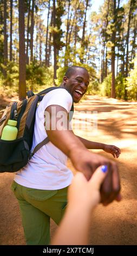
<instances>
[{"instance_id":1,"label":"laughing man in white t-shirt and green pants looking back","mask_svg":"<svg viewBox=\"0 0 137 256\"><path fill-rule=\"evenodd\" d=\"M73 178L73 173L67 167L67 157L87 180L97 167L107 164L109 171L101 187L101 202L107 205L113 200L121 199L116 164L88 150L102 149L114 157L119 157L120 149L114 145L87 141L75 136L73 131L66 127L57 127L58 113L64 112L68 116L73 101L80 101L88 84L88 71L79 66L71 66L63 77L60 88L46 94L37 107L32 149L47 136L49 143L38 150L27 166L16 173L12 184L21 209L28 245L48 245L50 218L57 224L61 221L67 205L68 186ZM53 108L56 111L52 111ZM54 129L46 129L47 126L52 127L53 119ZM68 118L67 122L69 123Z\"/></svg>"}]
</instances>

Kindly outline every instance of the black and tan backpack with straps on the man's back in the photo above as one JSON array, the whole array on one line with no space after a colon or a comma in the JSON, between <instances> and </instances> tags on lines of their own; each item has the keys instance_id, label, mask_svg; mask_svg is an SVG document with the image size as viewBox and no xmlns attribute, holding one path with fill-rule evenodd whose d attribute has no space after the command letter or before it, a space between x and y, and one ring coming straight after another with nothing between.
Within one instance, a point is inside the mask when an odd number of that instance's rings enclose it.
<instances>
[{"instance_id":1,"label":"black and tan backpack with straps on the man's back","mask_svg":"<svg viewBox=\"0 0 137 256\"><path fill-rule=\"evenodd\" d=\"M45 94L58 88L59 87L50 87L36 95L32 91L29 91L27 93L28 99L19 102L11 102L6 106L0 120L0 138L2 136L3 128L8 123L9 119L17 121L18 133L17 138L14 141L0 139L0 173L17 172L27 164L31 157L43 145L49 142L48 137L45 138L41 143L36 145L32 152L30 152L37 103L43 99ZM73 111L74 106L72 105L70 112L73 113Z\"/></svg>"}]
</instances>

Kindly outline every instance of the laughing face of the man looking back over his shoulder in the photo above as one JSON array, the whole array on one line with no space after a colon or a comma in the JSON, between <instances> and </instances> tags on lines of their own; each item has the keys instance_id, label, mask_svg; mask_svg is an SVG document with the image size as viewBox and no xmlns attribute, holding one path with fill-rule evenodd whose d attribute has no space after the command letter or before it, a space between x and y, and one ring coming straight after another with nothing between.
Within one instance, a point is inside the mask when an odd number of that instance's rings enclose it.
<instances>
[{"instance_id":1,"label":"laughing face of the man looking back over his shoulder","mask_svg":"<svg viewBox=\"0 0 137 256\"><path fill-rule=\"evenodd\" d=\"M71 93L74 102L79 102L86 93L89 85L89 74L84 69L76 69L75 73L69 78L64 76L64 87Z\"/></svg>"}]
</instances>

